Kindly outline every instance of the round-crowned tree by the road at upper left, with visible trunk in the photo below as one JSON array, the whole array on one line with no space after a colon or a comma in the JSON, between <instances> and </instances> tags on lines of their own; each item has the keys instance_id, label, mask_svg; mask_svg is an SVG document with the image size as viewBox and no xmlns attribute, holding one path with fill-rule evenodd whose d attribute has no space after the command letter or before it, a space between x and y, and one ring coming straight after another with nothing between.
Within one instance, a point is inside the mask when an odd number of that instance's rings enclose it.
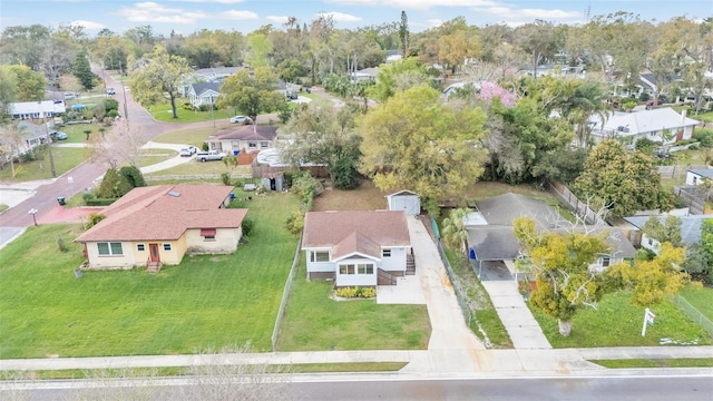
<instances>
[{"instance_id":1,"label":"round-crowned tree by the road at upper left, with visible trunk","mask_svg":"<svg viewBox=\"0 0 713 401\"><path fill-rule=\"evenodd\" d=\"M134 99L149 106L165 101L167 95L174 118L178 118L176 97L185 76L192 71L188 62L183 57L169 55L163 46L156 46L154 52L146 57L150 61L129 75Z\"/></svg>"}]
</instances>

